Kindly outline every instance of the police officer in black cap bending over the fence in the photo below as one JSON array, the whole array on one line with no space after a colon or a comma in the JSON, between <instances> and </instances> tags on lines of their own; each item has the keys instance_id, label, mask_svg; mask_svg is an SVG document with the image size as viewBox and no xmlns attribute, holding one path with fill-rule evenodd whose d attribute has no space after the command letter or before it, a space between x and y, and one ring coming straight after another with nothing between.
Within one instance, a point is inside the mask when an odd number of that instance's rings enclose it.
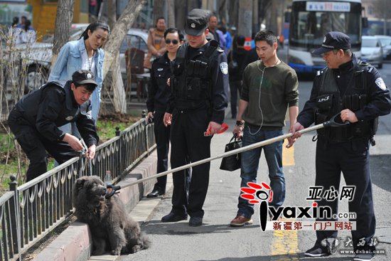
<instances>
[{"instance_id":1,"label":"police officer in black cap bending over the fence","mask_svg":"<svg viewBox=\"0 0 391 261\"><path fill-rule=\"evenodd\" d=\"M99 140L91 117L90 96L97 87L90 70L77 70L68 82L48 82L19 100L8 124L30 160L26 180L47 171L46 151L60 164L77 155L82 143L58 127L76 122L87 144L86 157L93 159Z\"/></svg>"}]
</instances>

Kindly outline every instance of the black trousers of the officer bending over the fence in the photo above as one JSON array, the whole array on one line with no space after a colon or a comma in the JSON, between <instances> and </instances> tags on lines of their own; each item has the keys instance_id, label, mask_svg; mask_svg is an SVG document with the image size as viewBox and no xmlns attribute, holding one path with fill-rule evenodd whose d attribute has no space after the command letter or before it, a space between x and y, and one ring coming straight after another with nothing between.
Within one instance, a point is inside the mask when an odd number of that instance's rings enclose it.
<instances>
[{"instance_id":1,"label":"black trousers of the officer bending over the fence","mask_svg":"<svg viewBox=\"0 0 391 261\"><path fill-rule=\"evenodd\" d=\"M43 137L36 127L27 122L23 118L23 114L15 109L9 114L8 124L30 160L26 172L26 181L31 181L48 171L48 154L46 151L60 164L79 154L66 142L53 142Z\"/></svg>"}]
</instances>

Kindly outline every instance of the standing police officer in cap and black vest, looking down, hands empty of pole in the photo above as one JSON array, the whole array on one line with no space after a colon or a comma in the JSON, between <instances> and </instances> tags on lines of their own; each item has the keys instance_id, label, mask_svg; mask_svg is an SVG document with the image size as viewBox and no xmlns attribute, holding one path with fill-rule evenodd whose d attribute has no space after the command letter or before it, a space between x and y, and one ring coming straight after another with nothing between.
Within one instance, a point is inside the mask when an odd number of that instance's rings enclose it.
<instances>
[{"instance_id":1,"label":"standing police officer in cap and black vest, looking down, hands empty of pole","mask_svg":"<svg viewBox=\"0 0 391 261\"><path fill-rule=\"evenodd\" d=\"M209 12L193 9L186 18L185 43L172 63L171 98L164 124L171 124L171 168L210 157L210 139L221 128L227 107L228 65L224 50L207 41ZM205 133L204 133L205 132ZM185 171L173 174L172 209L162 222L203 223L210 163L194 166L186 194Z\"/></svg>"}]
</instances>

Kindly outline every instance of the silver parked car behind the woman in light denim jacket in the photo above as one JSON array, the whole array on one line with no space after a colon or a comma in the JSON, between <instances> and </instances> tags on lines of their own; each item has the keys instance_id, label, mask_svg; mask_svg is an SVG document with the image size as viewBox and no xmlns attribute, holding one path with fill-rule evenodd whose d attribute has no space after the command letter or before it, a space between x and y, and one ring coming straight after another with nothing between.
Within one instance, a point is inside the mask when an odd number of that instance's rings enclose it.
<instances>
[{"instance_id":1,"label":"silver parked car behind the woman in light denim jacket","mask_svg":"<svg viewBox=\"0 0 391 261\"><path fill-rule=\"evenodd\" d=\"M74 23L70 28L70 41L77 40L88 23ZM139 28L131 28L119 49L120 66L122 75L126 75L125 51L129 48L138 48L147 53L148 31ZM50 63L52 59L53 37L48 37L45 42L33 44L20 44L16 46L21 53L21 58L27 60L26 91L40 87L48 79Z\"/></svg>"}]
</instances>

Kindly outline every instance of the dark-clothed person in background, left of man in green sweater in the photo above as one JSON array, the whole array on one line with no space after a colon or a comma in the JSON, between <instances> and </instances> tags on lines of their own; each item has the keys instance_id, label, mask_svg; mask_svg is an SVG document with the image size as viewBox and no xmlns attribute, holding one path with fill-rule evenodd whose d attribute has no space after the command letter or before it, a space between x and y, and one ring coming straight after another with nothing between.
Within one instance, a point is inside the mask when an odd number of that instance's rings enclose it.
<instances>
[{"instance_id":1,"label":"dark-clothed person in background, left of man in green sweater","mask_svg":"<svg viewBox=\"0 0 391 261\"><path fill-rule=\"evenodd\" d=\"M245 49L245 36L235 37L235 48L228 53L228 73L230 73L231 117L236 119L237 92L242 89L242 73L248 50ZM231 66L229 66L231 65ZM236 65L236 66L235 66Z\"/></svg>"}]
</instances>

